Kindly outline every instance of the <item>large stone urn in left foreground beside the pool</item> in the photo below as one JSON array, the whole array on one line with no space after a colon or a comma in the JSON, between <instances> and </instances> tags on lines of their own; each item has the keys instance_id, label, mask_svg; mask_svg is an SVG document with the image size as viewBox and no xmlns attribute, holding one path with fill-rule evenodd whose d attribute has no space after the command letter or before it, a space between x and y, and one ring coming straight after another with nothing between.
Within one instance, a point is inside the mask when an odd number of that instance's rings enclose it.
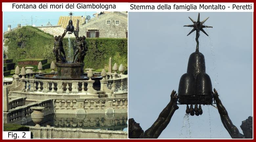
<instances>
[{"instance_id":1,"label":"large stone urn in left foreground beside the pool","mask_svg":"<svg viewBox=\"0 0 256 142\"><path fill-rule=\"evenodd\" d=\"M41 127L39 124L42 122L44 118L44 113L42 113L42 110L45 109L44 107L31 107L30 109L33 110L31 114L32 121L35 123L35 127Z\"/></svg>"}]
</instances>

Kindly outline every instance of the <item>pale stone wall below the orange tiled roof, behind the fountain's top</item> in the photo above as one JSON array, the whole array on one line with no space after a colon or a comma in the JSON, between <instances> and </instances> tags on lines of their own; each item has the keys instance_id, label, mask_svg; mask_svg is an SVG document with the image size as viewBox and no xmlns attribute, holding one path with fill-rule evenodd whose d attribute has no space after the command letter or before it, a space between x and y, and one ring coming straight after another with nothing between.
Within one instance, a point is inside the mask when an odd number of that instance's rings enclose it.
<instances>
[{"instance_id":1,"label":"pale stone wall below the orange tiled roof, behind the fountain's top","mask_svg":"<svg viewBox=\"0 0 256 142\"><path fill-rule=\"evenodd\" d=\"M61 26L43 26L43 27L38 26L37 28L39 28L40 30L42 30L46 33L49 33L53 36L62 35L65 30L65 28L63 28ZM68 37L75 38L75 35L74 34L66 34L65 38L68 38Z\"/></svg>"}]
</instances>

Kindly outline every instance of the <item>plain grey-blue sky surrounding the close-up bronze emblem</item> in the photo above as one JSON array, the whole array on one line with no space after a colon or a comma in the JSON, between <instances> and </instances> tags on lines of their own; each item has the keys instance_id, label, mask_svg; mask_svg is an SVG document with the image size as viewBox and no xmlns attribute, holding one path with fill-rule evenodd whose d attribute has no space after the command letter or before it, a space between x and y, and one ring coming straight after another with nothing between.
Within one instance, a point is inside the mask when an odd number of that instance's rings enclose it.
<instances>
[{"instance_id":1,"label":"plain grey-blue sky surrounding the close-up bronze emblem","mask_svg":"<svg viewBox=\"0 0 256 142\"><path fill-rule=\"evenodd\" d=\"M145 131L168 104L172 90L178 92L188 58L195 52L195 32L183 27L197 20L196 12L129 12L129 118ZM204 54L206 73L243 133L242 121L252 116L252 12L201 12L201 21L213 26L201 32L199 51ZM186 105L179 105L159 138L231 138L218 110L202 106L203 115L184 121ZM183 128L182 128L183 127Z\"/></svg>"}]
</instances>

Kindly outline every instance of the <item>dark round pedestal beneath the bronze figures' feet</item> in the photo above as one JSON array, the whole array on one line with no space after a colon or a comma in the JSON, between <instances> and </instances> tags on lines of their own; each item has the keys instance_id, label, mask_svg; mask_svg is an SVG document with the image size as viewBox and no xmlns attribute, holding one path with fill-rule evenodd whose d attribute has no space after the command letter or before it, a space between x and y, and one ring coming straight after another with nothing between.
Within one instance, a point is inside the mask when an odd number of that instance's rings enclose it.
<instances>
[{"instance_id":1,"label":"dark round pedestal beneath the bronze figures' feet","mask_svg":"<svg viewBox=\"0 0 256 142\"><path fill-rule=\"evenodd\" d=\"M77 79L84 75L84 63L56 62L57 76Z\"/></svg>"}]
</instances>

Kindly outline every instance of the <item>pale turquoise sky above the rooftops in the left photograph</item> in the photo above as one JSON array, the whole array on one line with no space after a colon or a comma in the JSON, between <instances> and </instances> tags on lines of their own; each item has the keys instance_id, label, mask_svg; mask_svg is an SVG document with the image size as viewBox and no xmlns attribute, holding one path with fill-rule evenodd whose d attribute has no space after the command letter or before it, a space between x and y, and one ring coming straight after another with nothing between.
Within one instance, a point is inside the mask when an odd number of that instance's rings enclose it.
<instances>
[{"instance_id":1,"label":"pale turquoise sky above the rooftops in the left photograph","mask_svg":"<svg viewBox=\"0 0 256 142\"><path fill-rule=\"evenodd\" d=\"M73 12L74 16L90 15L93 18L94 11L89 12ZM68 16L69 12L3 12L3 28L7 31L7 26L11 25L11 29L17 27L17 24L25 26L25 24L35 26L46 25L48 21L55 26L58 24L60 16ZM31 19L32 16L32 19Z\"/></svg>"}]
</instances>

